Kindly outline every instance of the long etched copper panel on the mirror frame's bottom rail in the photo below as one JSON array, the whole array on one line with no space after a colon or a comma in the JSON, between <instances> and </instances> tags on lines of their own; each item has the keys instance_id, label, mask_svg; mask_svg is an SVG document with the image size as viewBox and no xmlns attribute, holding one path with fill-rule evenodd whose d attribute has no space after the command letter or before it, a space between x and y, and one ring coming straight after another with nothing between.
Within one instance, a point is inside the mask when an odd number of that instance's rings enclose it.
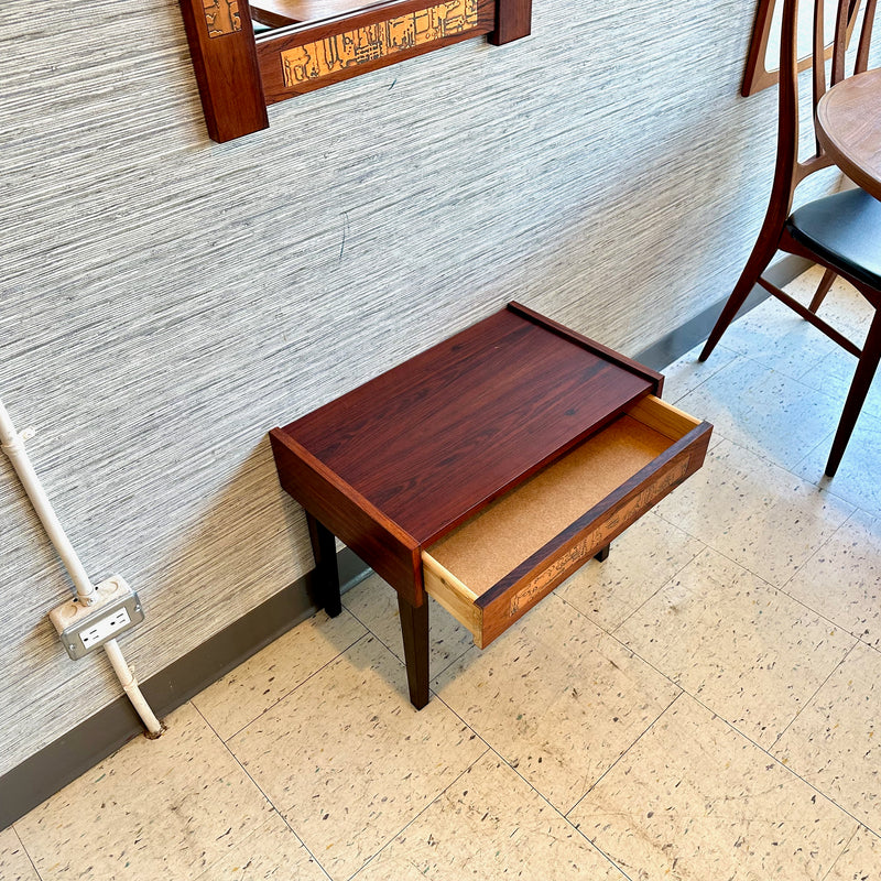
<instances>
[{"instance_id":1,"label":"long etched copper panel on the mirror frame's bottom rail","mask_svg":"<svg viewBox=\"0 0 881 881\"><path fill-rule=\"evenodd\" d=\"M207 0L206 0L207 1ZM320 79L476 28L477 0L447 0L281 53L284 84Z\"/></svg>"}]
</instances>

